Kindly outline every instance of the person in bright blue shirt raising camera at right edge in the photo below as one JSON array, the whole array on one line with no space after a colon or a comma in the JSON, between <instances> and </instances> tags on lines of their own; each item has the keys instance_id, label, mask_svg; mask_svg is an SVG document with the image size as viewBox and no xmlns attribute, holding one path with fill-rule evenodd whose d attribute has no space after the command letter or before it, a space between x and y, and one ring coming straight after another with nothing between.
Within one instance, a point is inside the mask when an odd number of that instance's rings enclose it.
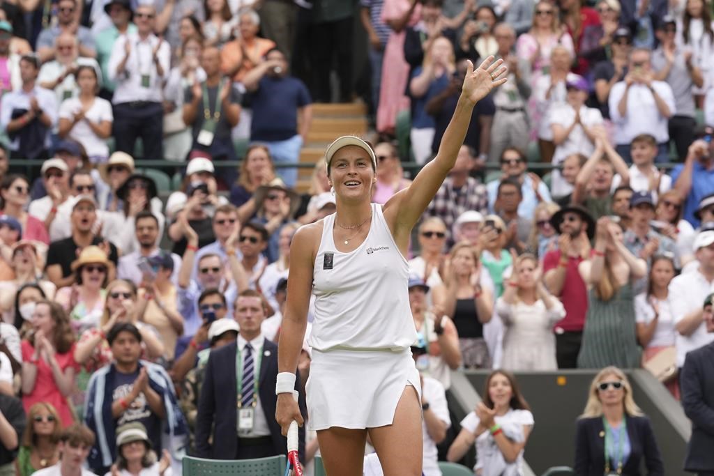
<instances>
[{"instance_id":1,"label":"person in bright blue shirt raising camera at right edge","mask_svg":"<svg viewBox=\"0 0 714 476\"><path fill-rule=\"evenodd\" d=\"M700 200L714 193L714 142L711 141L714 126L698 131L697 139L689 146L683 164L675 166L670 176L673 188L684 198L683 218L699 226L695 211Z\"/></svg>"}]
</instances>

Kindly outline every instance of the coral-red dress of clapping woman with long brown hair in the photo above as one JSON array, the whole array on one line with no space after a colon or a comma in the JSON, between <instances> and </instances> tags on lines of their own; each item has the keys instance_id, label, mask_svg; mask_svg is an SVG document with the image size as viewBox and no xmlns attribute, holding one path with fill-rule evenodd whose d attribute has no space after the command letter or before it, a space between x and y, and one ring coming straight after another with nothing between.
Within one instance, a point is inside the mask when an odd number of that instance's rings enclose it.
<instances>
[{"instance_id":1,"label":"coral-red dress of clapping woman with long brown hair","mask_svg":"<svg viewBox=\"0 0 714 476\"><path fill-rule=\"evenodd\" d=\"M21 346L22 360L24 362L29 362L32 360L35 348L32 347L32 344L26 340L22 341ZM79 372L79 365L77 365L74 361L74 346L75 344L72 344L69 352L64 354L56 353L54 356L63 373L64 370L69 367L74 368L75 375ZM36 402L51 403L59 414L59 419L62 422L63 428L68 427L74 422L74 417L72 416L72 410L69 407L67 397L62 395L59 391L59 388L54 381L54 377L52 376L52 369L43 358L39 358L37 362L37 378L35 380L35 388L29 395L22 395L22 406L25 407L25 412L29 412L30 407Z\"/></svg>"}]
</instances>

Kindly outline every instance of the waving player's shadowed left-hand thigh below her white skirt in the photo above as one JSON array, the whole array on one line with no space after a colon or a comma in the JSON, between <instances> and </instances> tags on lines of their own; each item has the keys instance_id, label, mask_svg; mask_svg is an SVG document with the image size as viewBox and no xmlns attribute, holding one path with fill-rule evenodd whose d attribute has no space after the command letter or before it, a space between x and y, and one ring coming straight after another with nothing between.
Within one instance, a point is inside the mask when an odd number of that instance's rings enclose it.
<instances>
[{"instance_id":1,"label":"waving player's shadowed left-hand thigh below her white skirt","mask_svg":"<svg viewBox=\"0 0 714 476\"><path fill-rule=\"evenodd\" d=\"M319 430L317 440L328 476L362 476L367 430L331 427Z\"/></svg>"}]
</instances>

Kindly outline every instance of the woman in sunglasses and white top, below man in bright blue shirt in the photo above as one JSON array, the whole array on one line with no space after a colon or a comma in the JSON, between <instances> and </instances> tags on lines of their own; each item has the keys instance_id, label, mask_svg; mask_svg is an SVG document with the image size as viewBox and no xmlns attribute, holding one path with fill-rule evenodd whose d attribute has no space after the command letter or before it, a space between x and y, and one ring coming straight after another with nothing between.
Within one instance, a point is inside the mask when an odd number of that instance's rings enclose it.
<instances>
[{"instance_id":1,"label":"woman in sunglasses and white top, below man in bright blue shirt","mask_svg":"<svg viewBox=\"0 0 714 476\"><path fill-rule=\"evenodd\" d=\"M652 222L656 231L674 240L675 255L678 258L675 261L676 268L684 268L687 263L695 259L692 248L695 232L691 224L681 218L682 202L682 198L675 190L661 194L655 208L655 221Z\"/></svg>"}]
</instances>

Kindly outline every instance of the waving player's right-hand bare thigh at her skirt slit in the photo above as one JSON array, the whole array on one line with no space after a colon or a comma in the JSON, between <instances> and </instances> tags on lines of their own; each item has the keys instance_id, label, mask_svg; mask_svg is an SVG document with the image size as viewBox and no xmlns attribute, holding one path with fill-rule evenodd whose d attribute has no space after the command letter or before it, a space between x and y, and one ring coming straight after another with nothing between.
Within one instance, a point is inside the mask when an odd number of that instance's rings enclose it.
<instances>
[{"instance_id":1,"label":"waving player's right-hand bare thigh at her skirt slit","mask_svg":"<svg viewBox=\"0 0 714 476\"><path fill-rule=\"evenodd\" d=\"M416 389L404 388L391 425L370 428L384 476L421 476L423 441L421 407Z\"/></svg>"}]
</instances>

